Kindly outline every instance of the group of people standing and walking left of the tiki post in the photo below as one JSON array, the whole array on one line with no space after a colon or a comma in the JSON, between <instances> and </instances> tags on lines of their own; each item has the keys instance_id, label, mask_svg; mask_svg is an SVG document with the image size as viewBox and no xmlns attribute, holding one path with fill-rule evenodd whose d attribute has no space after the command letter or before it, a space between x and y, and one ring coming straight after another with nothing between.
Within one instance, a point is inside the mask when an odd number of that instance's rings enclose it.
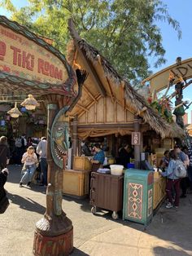
<instances>
[{"instance_id":1,"label":"group of people standing and walking left of the tiki post","mask_svg":"<svg viewBox=\"0 0 192 256\"><path fill-rule=\"evenodd\" d=\"M24 184L31 186L32 180L40 186L47 186L46 137L26 139L22 135L8 143L7 137L0 137L0 168L3 170L11 162L23 166L20 188Z\"/></svg>"}]
</instances>

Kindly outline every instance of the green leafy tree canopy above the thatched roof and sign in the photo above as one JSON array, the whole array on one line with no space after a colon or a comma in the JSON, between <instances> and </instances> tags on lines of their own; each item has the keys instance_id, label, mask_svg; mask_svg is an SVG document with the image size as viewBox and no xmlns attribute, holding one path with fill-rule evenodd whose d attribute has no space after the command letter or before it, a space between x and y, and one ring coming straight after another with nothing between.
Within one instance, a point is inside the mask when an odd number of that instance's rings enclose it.
<instances>
[{"instance_id":1,"label":"green leafy tree canopy above the thatched roof and sign","mask_svg":"<svg viewBox=\"0 0 192 256\"><path fill-rule=\"evenodd\" d=\"M161 0L28 0L17 8L11 0L0 5L11 11L11 19L34 33L54 40L65 54L70 40L68 18L73 19L81 38L95 46L124 77L137 84L155 67L165 63L162 35L157 22L172 26L181 38L177 20Z\"/></svg>"}]
</instances>

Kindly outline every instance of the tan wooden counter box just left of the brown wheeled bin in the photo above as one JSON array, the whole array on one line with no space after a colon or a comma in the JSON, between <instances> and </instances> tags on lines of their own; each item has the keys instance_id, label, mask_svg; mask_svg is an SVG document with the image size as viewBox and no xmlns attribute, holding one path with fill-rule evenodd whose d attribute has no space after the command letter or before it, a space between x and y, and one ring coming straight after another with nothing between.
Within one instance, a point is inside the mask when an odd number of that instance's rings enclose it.
<instances>
[{"instance_id":1,"label":"tan wooden counter box just left of the brown wheeled bin","mask_svg":"<svg viewBox=\"0 0 192 256\"><path fill-rule=\"evenodd\" d=\"M63 170L63 194L86 196L89 194L89 170Z\"/></svg>"}]
</instances>

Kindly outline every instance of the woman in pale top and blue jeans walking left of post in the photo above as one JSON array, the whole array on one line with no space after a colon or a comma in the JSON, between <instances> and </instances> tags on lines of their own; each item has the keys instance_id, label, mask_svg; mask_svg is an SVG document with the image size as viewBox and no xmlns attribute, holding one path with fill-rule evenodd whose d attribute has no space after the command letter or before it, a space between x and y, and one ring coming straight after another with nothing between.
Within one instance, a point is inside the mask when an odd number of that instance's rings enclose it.
<instances>
[{"instance_id":1,"label":"woman in pale top and blue jeans walking left of post","mask_svg":"<svg viewBox=\"0 0 192 256\"><path fill-rule=\"evenodd\" d=\"M38 160L33 146L27 148L27 152L24 152L21 162L24 164L24 174L20 179L20 188L23 186L23 183L27 183L27 186L30 186L33 174L37 168Z\"/></svg>"}]
</instances>

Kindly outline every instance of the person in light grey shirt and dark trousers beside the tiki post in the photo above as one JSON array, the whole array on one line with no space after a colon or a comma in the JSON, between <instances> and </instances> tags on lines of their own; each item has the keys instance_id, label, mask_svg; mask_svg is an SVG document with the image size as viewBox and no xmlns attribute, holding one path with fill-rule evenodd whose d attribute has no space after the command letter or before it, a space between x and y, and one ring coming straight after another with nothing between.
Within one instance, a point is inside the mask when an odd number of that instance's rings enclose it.
<instances>
[{"instance_id":1,"label":"person in light grey shirt and dark trousers beside the tiki post","mask_svg":"<svg viewBox=\"0 0 192 256\"><path fill-rule=\"evenodd\" d=\"M42 173L42 185L47 186L47 161L46 161L46 147L47 141L46 137L42 137L37 145L36 152L40 156L39 162Z\"/></svg>"}]
</instances>

